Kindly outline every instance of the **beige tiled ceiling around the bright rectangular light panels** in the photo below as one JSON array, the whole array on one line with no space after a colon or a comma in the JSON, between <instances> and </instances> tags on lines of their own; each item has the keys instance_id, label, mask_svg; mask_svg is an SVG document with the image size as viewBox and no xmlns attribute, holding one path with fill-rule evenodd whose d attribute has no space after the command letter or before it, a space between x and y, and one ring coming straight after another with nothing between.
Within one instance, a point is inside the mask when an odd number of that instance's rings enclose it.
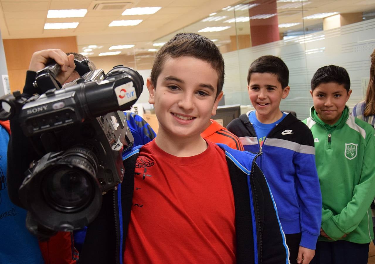
<instances>
[{"instance_id":1,"label":"beige tiled ceiling around the bright rectangular light panels","mask_svg":"<svg viewBox=\"0 0 375 264\"><path fill-rule=\"evenodd\" d=\"M275 0L270 0L275 1ZM18 39L32 37L77 36L78 50L88 45L103 46L95 49L92 56L99 52L108 51L112 45L134 44L135 48L128 51L145 52L153 42L165 41L175 31L198 30L208 26L228 26L223 21L202 22L212 12L234 16L248 16L248 10L222 11L223 7L251 1L238 0L0 0L0 30L3 39ZM281 23L301 23L298 26L281 29L303 30L305 27L317 24L322 20L302 20L315 13L340 12L355 13L375 11L375 0L303 0L301 2L284 3L277 1L278 21ZM93 10L99 4L103 9ZM160 6L153 15L121 16L130 7ZM105 10L117 7L114 10ZM87 9L83 18L47 18L49 9ZM137 26L108 27L113 20L142 19ZM45 23L79 22L75 29L44 30ZM249 22L231 23L228 30L215 33L204 33L211 39L229 39L236 34L249 34ZM122 50L126 54L126 50Z\"/></svg>"}]
</instances>

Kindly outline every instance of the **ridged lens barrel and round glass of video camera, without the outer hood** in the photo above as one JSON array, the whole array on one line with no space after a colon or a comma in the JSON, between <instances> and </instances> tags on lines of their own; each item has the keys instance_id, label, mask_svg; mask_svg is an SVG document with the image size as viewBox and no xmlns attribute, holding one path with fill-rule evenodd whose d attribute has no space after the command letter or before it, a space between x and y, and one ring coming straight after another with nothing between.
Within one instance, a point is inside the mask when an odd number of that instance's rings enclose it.
<instances>
[{"instance_id":1,"label":"ridged lens barrel and round glass of video camera, without the outer hood","mask_svg":"<svg viewBox=\"0 0 375 264\"><path fill-rule=\"evenodd\" d=\"M42 180L45 201L52 208L75 212L89 204L95 195L96 156L85 147L74 147L50 166Z\"/></svg>"}]
</instances>

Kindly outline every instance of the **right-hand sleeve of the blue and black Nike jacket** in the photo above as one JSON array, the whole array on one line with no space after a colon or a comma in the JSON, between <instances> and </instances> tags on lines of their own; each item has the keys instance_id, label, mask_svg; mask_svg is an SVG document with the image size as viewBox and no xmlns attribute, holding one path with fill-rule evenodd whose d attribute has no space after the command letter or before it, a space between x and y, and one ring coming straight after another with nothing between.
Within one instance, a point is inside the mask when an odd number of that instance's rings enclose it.
<instances>
[{"instance_id":1,"label":"right-hand sleeve of the blue and black Nike jacket","mask_svg":"<svg viewBox=\"0 0 375 264\"><path fill-rule=\"evenodd\" d=\"M315 165L314 138L308 127L303 141L293 155L296 192L300 204L300 246L315 249L320 235L322 195Z\"/></svg>"}]
</instances>

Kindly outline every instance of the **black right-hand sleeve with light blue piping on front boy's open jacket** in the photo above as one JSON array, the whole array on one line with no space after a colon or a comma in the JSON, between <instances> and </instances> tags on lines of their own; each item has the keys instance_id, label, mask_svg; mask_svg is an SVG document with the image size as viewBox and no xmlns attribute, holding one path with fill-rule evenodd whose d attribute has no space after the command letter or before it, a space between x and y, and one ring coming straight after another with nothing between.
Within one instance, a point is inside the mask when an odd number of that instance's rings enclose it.
<instances>
[{"instance_id":1,"label":"black right-hand sleeve with light blue piping on front boy's open jacket","mask_svg":"<svg viewBox=\"0 0 375 264\"><path fill-rule=\"evenodd\" d=\"M261 263L289 263L289 249L285 243L285 235L281 228L275 201L266 178L258 165L254 167L252 178L255 181L253 197L261 200L258 201L261 224L261 235L258 236L262 245Z\"/></svg>"}]
</instances>

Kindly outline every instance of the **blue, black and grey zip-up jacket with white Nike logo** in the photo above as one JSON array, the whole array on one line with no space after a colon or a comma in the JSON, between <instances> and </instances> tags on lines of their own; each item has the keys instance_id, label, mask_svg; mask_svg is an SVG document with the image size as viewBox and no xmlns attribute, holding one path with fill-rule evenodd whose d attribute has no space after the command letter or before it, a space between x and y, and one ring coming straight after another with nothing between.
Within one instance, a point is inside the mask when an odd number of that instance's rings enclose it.
<instances>
[{"instance_id":1,"label":"blue, black and grey zip-up jacket with white Nike logo","mask_svg":"<svg viewBox=\"0 0 375 264\"><path fill-rule=\"evenodd\" d=\"M315 249L321 225L322 196L315 166L310 129L288 114L260 147L249 121L250 111L227 128L240 138L245 150L262 155L257 164L270 184L285 234L302 233L300 246Z\"/></svg>"}]
</instances>

